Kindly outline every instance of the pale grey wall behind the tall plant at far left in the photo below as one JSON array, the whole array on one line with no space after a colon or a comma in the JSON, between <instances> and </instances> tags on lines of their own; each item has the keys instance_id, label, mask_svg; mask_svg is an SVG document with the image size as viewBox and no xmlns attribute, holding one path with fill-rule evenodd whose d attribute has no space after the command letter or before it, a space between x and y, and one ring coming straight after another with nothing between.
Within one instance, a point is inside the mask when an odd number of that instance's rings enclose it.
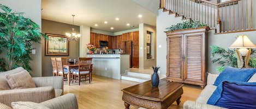
<instances>
[{"instance_id":1,"label":"pale grey wall behind the tall plant at far left","mask_svg":"<svg viewBox=\"0 0 256 109\"><path fill-rule=\"evenodd\" d=\"M7 5L15 12L25 12L24 16L30 18L41 28L41 0L1 0L0 4ZM31 55L32 76L41 76L41 44L33 43L36 50L35 55Z\"/></svg>"}]
</instances>

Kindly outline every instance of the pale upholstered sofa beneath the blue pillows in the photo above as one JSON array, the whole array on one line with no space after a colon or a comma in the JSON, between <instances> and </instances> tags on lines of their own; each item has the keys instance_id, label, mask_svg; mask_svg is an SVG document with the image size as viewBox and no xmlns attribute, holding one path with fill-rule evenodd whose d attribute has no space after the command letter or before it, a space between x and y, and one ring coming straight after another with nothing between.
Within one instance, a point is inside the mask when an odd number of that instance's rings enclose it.
<instances>
[{"instance_id":1,"label":"pale upholstered sofa beneath the blue pillows","mask_svg":"<svg viewBox=\"0 0 256 109\"><path fill-rule=\"evenodd\" d=\"M217 74L208 74L207 85L195 101L186 101L183 104L183 109L223 109L223 107L213 106L206 104L208 99L211 97L212 93L215 91L217 86L214 86L214 82L218 77ZM256 74L249 79L248 82L256 82Z\"/></svg>"}]
</instances>

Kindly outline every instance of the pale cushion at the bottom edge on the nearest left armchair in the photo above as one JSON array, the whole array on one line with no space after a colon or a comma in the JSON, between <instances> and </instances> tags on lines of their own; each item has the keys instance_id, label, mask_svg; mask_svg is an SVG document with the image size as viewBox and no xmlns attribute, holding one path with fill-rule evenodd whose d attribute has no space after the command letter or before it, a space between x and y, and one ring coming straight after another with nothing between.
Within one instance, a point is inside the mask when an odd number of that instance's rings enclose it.
<instances>
[{"instance_id":1,"label":"pale cushion at the bottom edge on the nearest left armchair","mask_svg":"<svg viewBox=\"0 0 256 109\"><path fill-rule=\"evenodd\" d=\"M13 109L50 109L42 104L38 104L30 101L11 102L11 107L13 107Z\"/></svg>"}]
</instances>

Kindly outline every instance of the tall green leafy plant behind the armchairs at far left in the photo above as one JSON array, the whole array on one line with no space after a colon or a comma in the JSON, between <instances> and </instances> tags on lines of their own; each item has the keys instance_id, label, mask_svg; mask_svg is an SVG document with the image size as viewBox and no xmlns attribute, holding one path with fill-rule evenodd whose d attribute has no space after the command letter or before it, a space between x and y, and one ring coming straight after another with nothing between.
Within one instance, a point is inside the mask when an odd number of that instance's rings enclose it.
<instances>
[{"instance_id":1,"label":"tall green leafy plant behind the armchairs at far left","mask_svg":"<svg viewBox=\"0 0 256 109\"><path fill-rule=\"evenodd\" d=\"M0 57L1 70L21 66L29 71L32 43L40 43L43 35L39 25L5 5L0 4L0 9L0 50L4 54Z\"/></svg>"}]
</instances>

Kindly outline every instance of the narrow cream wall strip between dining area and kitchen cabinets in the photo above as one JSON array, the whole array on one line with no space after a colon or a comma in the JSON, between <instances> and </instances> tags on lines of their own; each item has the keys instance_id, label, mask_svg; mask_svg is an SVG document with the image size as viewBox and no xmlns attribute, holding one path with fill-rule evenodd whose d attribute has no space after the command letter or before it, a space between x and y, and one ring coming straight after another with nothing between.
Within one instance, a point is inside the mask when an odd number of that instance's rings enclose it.
<instances>
[{"instance_id":1,"label":"narrow cream wall strip between dining area and kitchen cabinets","mask_svg":"<svg viewBox=\"0 0 256 109\"><path fill-rule=\"evenodd\" d=\"M79 56L85 57L87 55L87 46L86 44L90 43L90 35L91 35L91 27L87 27L86 25L80 26L80 43L79 43Z\"/></svg>"}]
</instances>

